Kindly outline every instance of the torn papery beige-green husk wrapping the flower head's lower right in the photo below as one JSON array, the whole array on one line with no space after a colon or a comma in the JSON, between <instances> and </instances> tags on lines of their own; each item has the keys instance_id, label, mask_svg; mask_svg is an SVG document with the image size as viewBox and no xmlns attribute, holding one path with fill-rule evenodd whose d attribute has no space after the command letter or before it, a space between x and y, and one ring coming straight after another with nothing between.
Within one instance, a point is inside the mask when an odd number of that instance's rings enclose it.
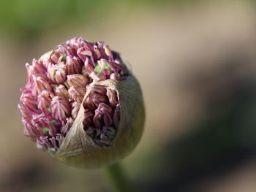
<instances>
[{"instance_id":1,"label":"torn papery beige-green husk wrapping the flower head's lower right","mask_svg":"<svg viewBox=\"0 0 256 192\"><path fill-rule=\"evenodd\" d=\"M83 128L85 109L81 104L78 116L64 138L59 150L50 153L54 158L72 166L94 168L112 164L134 150L143 132L145 110L138 80L130 74L126 80L104 80L93 86L103 86L117 92L120 104L120 120L116 138L110 147L97 145ZM89 96L89 89L83 101Z\"/></svg>"}]
</instances>

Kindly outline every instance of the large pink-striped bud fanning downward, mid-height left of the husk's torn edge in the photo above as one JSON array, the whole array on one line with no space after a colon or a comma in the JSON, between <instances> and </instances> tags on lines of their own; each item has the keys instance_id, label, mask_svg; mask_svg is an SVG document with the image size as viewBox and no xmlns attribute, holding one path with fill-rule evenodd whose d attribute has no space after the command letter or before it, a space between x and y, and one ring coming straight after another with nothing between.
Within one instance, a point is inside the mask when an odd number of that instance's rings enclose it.
<instances>
[{"instance_id":1,"label":"large pink-striped bud fanning downward, mid-height left of the husk's torn edge","mask_svg":"<svg viewBox=\"0 0 256 192\"><path fill-rule=\"evenodd\" d=\"M71 115L71 107L69 101L63 96L54 96L50 102L50 108L53 118L57 120L66 120Z\"/></svg>"}]
</instances>

